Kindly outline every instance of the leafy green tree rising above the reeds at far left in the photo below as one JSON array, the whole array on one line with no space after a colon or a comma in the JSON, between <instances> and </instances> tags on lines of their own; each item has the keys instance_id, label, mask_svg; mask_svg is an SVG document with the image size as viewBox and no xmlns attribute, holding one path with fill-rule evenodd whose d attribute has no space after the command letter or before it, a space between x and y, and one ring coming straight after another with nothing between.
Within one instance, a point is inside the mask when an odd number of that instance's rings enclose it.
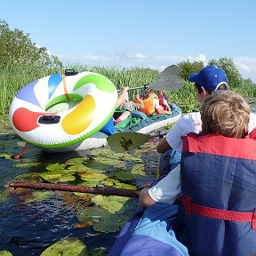
<instances>
[{"instance_id":1,"label":"leafy green tree rising above the reeds at far left","mask_svg":"<svg viewBox=\"0 0 256 256\"><path fill-rule=\"evenodd\" d=\"M48 54L45 47L36 47L29 34L9 28L5 20L0 20L0 67L10 64L33 65L38 68L62 67L56 56Z\"/></svg>"}]
</instances>

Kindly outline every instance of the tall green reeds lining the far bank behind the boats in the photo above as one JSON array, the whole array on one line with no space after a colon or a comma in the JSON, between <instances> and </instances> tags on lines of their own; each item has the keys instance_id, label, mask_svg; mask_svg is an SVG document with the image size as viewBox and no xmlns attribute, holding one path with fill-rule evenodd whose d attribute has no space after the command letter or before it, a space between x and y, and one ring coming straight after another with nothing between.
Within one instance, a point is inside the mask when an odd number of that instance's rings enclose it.
<instances>
[{"instance_id":1,"label":"tall green reeds lining the far bank behind the boats","mask_svg":"<svg viewBox=\"0 0 256 256\"><path fill-rule=\"evenodd\" d=\"M19 66L9 65L0 69L0 114L8 113L9 107L15 94L25 85L40 79L44 76L50 76L56 73L62 73L66 68L75 69L76 71L91 71L108 77L115 85L116 89L121 89L127 85L130 88L151 84L156 81L159 71L151 68L104 68L100 66L90 67L80 64L68 65L64 68L44 68L36 66ZM247 83L248 82L248 83ZM232 88L233 90L234 88ZM256 97L256 86L247 80L235 88L246 98ZM134 99L141 90L129 91L130 99ZM182 112L191 112L197 109L195 86L188 81L183 82L183 86L178 91L167 92L171 102L177 104Z\"/></svg>"}]
</instances>

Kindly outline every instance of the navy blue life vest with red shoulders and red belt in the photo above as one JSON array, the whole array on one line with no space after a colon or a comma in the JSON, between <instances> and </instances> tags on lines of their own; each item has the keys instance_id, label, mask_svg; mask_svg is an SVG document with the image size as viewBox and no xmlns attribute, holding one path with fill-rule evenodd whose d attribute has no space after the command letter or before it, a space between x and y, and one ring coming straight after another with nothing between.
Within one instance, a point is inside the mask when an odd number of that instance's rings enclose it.
<instances>
[{"instance_id":1,"label":"navy blue life vest with red shoulders and red belt","mask_svg":"<svg viewBox=\"0 0 256 256\"><path fill-rule=\"evenodd\" d=\"M256 130L244 139L183 138L176 234L189 255L256 252Z\"/></svg>"}]
</instances>

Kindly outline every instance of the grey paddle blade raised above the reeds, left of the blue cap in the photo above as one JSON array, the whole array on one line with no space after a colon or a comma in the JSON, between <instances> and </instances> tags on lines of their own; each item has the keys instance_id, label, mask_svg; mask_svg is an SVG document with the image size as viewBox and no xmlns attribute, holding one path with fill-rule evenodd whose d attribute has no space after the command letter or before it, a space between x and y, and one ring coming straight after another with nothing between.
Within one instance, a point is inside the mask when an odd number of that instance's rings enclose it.
<instances>
[{"instance_id":1,"label":"grey paddle blade raised above the reeds, left of the blue cap","mask_svg":"<svg viewBox=\"0 0 256 256\"><path fill-rule=\"evenodd\" d=\"M182 87L183 81L180 77L180 68L172 65L164 69L158 76L156 82L149 84L148 88L157 91L175 91Z\"/></svg>"}]
</instances>

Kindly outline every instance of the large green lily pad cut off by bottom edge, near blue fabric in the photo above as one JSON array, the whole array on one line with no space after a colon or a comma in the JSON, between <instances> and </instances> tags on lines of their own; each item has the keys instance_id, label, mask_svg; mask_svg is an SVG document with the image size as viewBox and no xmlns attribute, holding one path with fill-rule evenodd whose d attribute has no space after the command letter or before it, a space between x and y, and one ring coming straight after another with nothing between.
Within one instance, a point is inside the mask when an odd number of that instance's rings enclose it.
<instances>
[{"instance_id":1,"label":"large green lily pad cut off by bottom edge, near blue fabric","mask_svg":"<svg viewBox=\"0 0 256 256\"><path fill-rule=\"evenodd\" d=\"M85 256L88 255L85 244L77 238L65 238L52 244L40 256Z\"/></svg>"}]
</instances>

